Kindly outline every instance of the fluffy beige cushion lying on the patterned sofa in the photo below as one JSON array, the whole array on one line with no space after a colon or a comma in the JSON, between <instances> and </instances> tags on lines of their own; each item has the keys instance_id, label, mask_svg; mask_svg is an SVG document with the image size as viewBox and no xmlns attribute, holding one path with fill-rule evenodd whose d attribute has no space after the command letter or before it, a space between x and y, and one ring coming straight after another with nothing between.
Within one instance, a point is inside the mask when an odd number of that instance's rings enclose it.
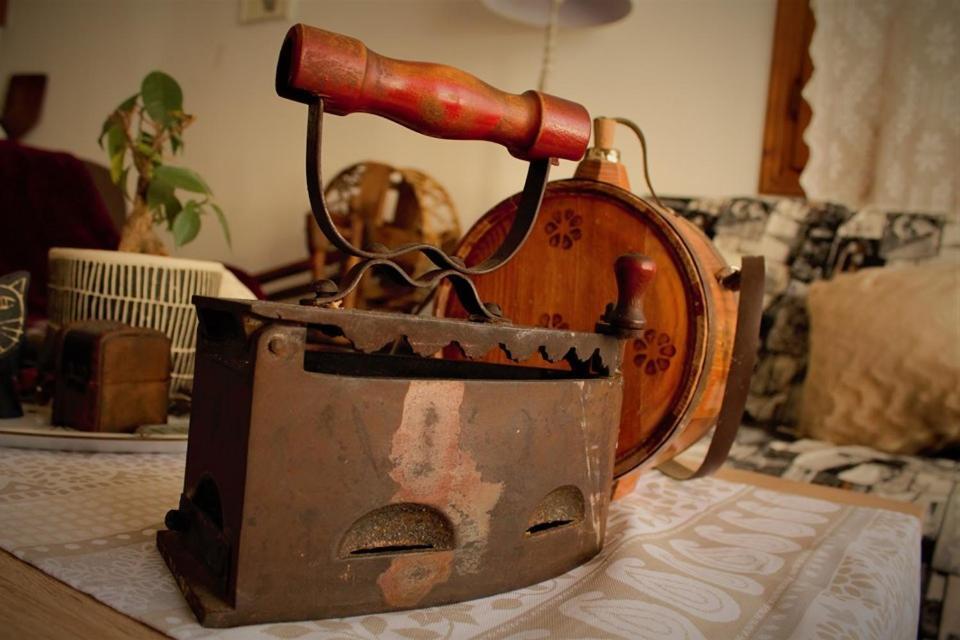
<instances>
[{"instance_id":1,"label":"fluffy beige cushion lying on the patterned sofa","mask_svg":"<svg viewBox=\"0 0 960 640\"><path fill-rule=\"evenodd\" d=\"M960 267L816 282L800 429L892 453L960 443Z\"/></svg>"}]
</instances>

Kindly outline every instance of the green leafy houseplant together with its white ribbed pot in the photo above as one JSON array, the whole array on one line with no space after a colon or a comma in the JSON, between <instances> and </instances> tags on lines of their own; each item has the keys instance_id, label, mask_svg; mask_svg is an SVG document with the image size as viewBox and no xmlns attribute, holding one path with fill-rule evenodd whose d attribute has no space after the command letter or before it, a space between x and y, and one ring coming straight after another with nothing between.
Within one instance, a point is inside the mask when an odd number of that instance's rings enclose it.
<instances>
[{"instance_id":1,"label":"green leafy houseplant together with its white ribbed pot","mask_svg":"<svg viewBox=\"0 0 960 640\"><path fill-rule=\"evenodd\" d=\"M169 257L157 236L156 227L164 225L182 246L197 236L202 219L213 215L230 243L223 211L207 183L196 172L167 163L183 151L183 132L193 121L183 110L176 80L160 71L147 74L140 91L110 112L100 133L110 175L130 202L120 250L58 247L49 254L51 322L115 320L163 331L172 343L172 396L189 392L193 382L193 296L254 297L219 262Z\"/></svg>"}]
</instances>

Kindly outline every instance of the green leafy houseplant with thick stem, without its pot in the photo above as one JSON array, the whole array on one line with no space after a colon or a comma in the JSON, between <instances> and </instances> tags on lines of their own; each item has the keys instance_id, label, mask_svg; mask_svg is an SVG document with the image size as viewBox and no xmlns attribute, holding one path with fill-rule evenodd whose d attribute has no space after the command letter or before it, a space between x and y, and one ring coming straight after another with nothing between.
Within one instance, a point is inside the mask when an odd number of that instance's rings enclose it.
<instances>
[{"instance_id":1,"label":"green leafy houseplant with thick stem, without its pot","mask_svg":"<svg viewBox=\"0 0 960 640\"><path fill-rule=\"evenodd\" d=\"M183 110L180 85L162 71L148 73L135 93L103 122L98 140L110 155L110 177L131 203L120 236L120 251L167 255L154 225L165 224L177 246L193 240L201 217L216 215L230 244L223 211L212 200L207 183L186 167L167 164L164 157L183 151L183 131L194 117ZM129 158L129 164L128 164ZM130 169L136 171L127 192ZM184 195L186 194L186 195Z\"/></svg>"}]
</instances>

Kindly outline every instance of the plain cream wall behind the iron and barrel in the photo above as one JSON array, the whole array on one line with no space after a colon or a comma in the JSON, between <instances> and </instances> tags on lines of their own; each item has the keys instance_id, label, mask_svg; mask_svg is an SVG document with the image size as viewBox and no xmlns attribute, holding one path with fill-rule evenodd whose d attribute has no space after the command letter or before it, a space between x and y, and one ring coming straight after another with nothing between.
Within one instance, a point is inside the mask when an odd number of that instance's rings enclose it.
<instances>
[{"instance_id":1,"label":"plain cream wall behind the iron and barrel","mask_svg":"<svg viewBox=\"0 0 960 640\"><path fill-rule=\"evenodd\" d=\"M754 193L774 11L773 0L637 0L618 24L560 32L549 91L593 115L637 121L661 193ZM236 0L10 0L0 82L47 73L43 119L25 142L106 164L96 145L104 116L150 70L173 75L198 117L178 162L206 178L234 234L231 252L205 221L176 254L256 271L305 254L306 107L273 89L289 25L240 25L238 14ZM542 33L476 0L299 0L294 18L511 92L533 88L539 74ZM451 192L465 228L522 186L524 165L496 145L434 140L367 115L326 125L328 177L365 159L422 169ZM627 134L620 145L639 190L639 151ZM563 162L553 176L573 169Z\"/></svg>"}]
</instances>

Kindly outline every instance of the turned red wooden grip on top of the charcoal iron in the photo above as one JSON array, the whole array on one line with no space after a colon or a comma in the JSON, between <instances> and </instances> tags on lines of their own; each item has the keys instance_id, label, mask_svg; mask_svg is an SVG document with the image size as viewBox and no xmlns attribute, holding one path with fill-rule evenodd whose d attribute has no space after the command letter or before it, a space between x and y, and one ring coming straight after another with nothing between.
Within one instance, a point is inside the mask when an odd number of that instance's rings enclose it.
<instances>
[{"instance_id":1,"label":"turned red wooden grip on top of the charcoal iron","mask_svg":"<svg viewBox=\"0 0 960 640\"><path fill-rule=\"evenodd\" d=\"M505 93L459 69L387 58L303 24L283 42L277 93L301 102L319 96L330 113L372 113L428 136L496 142L524 160L579 160L590 139L590 114L576 102Z\"/></svg>"}]
</instances>

